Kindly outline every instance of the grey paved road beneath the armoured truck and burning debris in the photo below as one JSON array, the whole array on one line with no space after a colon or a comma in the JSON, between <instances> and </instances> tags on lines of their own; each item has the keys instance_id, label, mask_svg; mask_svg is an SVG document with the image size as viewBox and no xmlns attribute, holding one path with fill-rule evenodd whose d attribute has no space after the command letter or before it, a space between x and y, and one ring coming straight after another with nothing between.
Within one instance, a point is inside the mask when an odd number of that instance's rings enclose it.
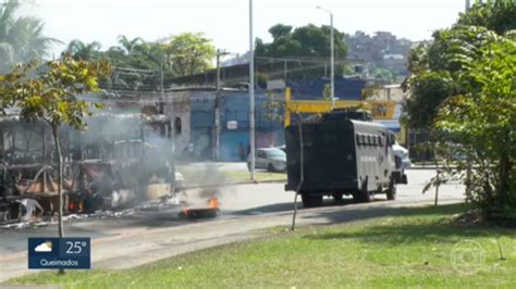
<instances>
[{"instance_id":1,"label":"grey paved road beneath the armoured truck and burning debris","mask_svg":"<svg viewBox=\"0 0 516 289\"><path fill-rule=\"evenodd\" d=\"M373 203L354 203L345 199L334 204L328 199L323 208L300 210L297 224L335 224L368 217L393 215L401 206L433 202L433 191L422 194L425 183L434 171L408 171L409 185L398 187L396 201L380 196ZM464 200L460 185L440 189L441 203ZM188 192L193 194L194 192ZM127 268L148 262L213 246L262 236L257 229L288 226L292 221L293 192L283 184L241 185L220 191L221 214L213 219L184 221L177 211L138 213L128 217L83 219L65 224L67 236L93 238L93 267ZM26 269L27 238L57 235L56 226L37 229L0 230L0 281L29 274Z\"/></svg>"}]
</instances>

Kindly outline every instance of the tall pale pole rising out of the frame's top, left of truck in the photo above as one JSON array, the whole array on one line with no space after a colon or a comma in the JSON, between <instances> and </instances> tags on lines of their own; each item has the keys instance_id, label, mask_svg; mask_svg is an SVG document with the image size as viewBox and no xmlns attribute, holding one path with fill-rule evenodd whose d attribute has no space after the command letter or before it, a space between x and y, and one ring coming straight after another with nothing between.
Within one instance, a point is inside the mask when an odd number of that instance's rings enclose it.
<instances>
[{"instance_id":1,"label":"tall pale pole rising out of the frame's top, left of truck","mask_svg":"<svg viewBox=\"0 0 516 289\"><path fill-rule=\"evenodd\" d=\"M250 179L255 180L255 47L253 39L253 0L249 0L249 146Z\"/></svg>"}]
</instances>

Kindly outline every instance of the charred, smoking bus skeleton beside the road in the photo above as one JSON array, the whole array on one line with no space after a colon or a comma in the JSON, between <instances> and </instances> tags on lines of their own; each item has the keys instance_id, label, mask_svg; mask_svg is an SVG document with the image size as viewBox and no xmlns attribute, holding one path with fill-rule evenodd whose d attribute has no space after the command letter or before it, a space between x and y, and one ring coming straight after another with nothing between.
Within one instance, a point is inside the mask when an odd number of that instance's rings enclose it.
<instances>
[{"instance_id":1,"label":"charred, smoking bus skeleton beside the road","mask_svg":"<svg viewBox=\"0 0 516 289\"><path fill-rule=\"evenodd\" d=\"M122 209L173 192L170 117L102 113L86 122L85 131L60 130L65 213ZM56 214L57 153L48 124L0 117L0 223L20 219L24 199L36 200L44 214Z\"/></svg>"}]
</instances>

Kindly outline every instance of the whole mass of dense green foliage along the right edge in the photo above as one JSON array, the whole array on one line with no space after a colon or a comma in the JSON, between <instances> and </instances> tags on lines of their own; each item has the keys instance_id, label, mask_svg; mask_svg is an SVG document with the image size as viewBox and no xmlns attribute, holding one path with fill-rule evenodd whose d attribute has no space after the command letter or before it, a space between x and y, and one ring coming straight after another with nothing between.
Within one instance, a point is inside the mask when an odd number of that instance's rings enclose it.
<instances>
[{"instance_id":1,"label":"whole mass of dense green foliage along the right edge","mask_svg":"<svg viewBox=\"0 0 516 289\"><path fill-rule=\"evenodd\" d=\"M435 183L465 179L490 216L516 217L514 11L516 1L477 3L413 50L405 84L408 125L430 129L435 158L453 164Z\"/></svg>"}]
</instances>

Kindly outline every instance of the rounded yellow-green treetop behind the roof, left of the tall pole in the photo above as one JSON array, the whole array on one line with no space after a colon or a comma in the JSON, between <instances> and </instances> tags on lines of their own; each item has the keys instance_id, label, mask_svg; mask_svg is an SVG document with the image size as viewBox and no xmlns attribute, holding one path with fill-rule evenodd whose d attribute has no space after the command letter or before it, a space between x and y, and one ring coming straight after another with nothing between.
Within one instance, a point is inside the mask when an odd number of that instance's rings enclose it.
<instances>
[{"instance_id":1,"label":"rounded yellow-green treetop behind the roof, left of the tall pole","mask_svg":"<svg viewBox=\"0 0 516 289\"><path fill-rule=\"evenodd\" d=\"M211 67L216 49L202 33L184 33L160 41L164 58L176 76L201 73Z\"/></svg>"}]
</instances>

